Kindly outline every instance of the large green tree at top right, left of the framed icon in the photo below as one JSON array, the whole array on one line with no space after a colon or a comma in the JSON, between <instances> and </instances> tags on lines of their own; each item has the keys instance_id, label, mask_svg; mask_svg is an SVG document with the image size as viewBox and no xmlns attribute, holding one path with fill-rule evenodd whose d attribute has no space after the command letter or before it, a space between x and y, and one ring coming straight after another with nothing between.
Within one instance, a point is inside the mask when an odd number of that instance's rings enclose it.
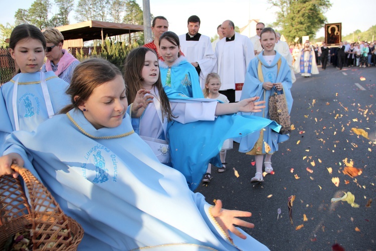
<instances>
[{"instance_id":1,"label":"large green tree at top right, left of the framed icon","mask_svg":"<svg viewBox=\"0 0 376 251\"><path fill-rule=\"evenodd\" d=\"M330 8L329 0L268 0L279 10L274 27L280 28L287 41L295 37L309 35L314 37L316 32L326 22L324 13Z\"/></svg>"}]
</instances>

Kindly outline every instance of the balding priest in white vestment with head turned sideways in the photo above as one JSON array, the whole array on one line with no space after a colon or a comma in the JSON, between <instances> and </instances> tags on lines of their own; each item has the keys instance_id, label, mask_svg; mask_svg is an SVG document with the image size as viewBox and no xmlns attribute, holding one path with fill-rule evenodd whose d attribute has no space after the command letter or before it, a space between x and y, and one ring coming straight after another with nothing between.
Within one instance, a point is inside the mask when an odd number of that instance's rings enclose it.
<instances>
[{"instance_id":1,"label":"balding priest in white vestment with head turned sideways","mask_svg":"<svg viewBox=\"0 0 376 251\"><path fill-rule=\"evenodd\" d=\"M230 102L239 101L245 73L255 53L251 40L235 32L232 21L224 21L221 27L225 37L217 43L217 64L213 71L221 77L220 92L226 95Z\"/></svg>"}]
</instances>

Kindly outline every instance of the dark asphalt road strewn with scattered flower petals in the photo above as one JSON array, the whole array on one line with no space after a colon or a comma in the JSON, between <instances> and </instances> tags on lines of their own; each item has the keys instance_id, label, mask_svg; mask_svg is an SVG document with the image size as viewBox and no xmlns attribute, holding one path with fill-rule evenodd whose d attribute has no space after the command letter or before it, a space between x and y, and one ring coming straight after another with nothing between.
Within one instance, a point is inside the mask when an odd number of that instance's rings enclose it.
<instances>
[{"instance_id":1,"label":"dark asphalt road strewn with scattered flower petals","mask_svg":"<svg viewBox=\"0 0 376 251\"><path fill-rule=\"evenodd\" d=\"M227 153L228 170L213 170L210 184L196 191L210 203L221 199L224 208L251 211L247 220L255 228L245 230L271 250L331 250L334 243L345 250L376 250L376 67L339 70L328 65L319 70L308 78L297 75L293 84L295 129L272 157L275 174L251 184L254 157L238 152L234 143ZM369 139L353 127L364 129ZM350 161L361 168L360 175L343 173ZM336 178L338 186L332 181ZM331 202L345 192L354 195L359 207ZM293 225L290 195L295 195ZM366 206L369 199L373 202Z\"/></svg>"}]
</instances>

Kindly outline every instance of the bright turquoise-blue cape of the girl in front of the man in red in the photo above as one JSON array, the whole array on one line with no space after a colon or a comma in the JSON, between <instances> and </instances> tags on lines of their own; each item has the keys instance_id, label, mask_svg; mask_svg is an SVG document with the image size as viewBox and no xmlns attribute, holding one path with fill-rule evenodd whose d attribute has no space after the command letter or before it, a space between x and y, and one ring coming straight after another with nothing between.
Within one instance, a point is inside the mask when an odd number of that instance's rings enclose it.
<instances>
[{"instance_id":1,"label":"bright turquoise-blue cape of the girl in front of the man in red","mask_svg":"<svg viewBox=\"0 0 376 251\"><path fill-rule=\"evenodd\" d=\"M159 60L160 78L163 86L166 86L168 68L169 66L165 62ZM167 86L189 97L204 98L199 74L196 68L187 61L185 57L178 57L175 63L170 67L170 71L171 85L169 86L167 84Z\"/></svg>"}]
</instances>

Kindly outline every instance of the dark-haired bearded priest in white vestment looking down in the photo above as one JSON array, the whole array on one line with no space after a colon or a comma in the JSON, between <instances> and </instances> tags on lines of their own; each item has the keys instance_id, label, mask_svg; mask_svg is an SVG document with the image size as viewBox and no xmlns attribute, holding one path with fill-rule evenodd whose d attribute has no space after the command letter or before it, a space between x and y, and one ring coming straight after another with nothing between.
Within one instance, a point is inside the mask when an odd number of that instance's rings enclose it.
<instances>
[{"instance_id":1,"label":"dark-haired bearded priest in white vestment looking down","mask_svg":"<svg viewBox=\"0 0 376 251\"><path fill-rule=\"evenodd\" d=\"M213 71L216 56L210 41L210 37L200 34L201 20L197 15L188 18L188 32L179 35L180 50L197 70L200 76L201 88L205 87L206 76Z\"/></svg>"}]
</instances>

